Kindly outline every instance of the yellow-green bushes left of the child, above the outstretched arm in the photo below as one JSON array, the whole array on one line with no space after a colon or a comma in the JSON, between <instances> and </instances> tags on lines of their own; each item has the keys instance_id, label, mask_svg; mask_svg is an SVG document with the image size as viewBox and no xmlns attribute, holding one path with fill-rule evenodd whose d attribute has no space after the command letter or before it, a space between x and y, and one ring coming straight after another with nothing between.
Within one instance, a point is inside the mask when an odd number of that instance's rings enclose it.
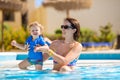
<instances>
[{"instance_id":1,"label":"yellow-green bushes left of the child, above the outstretched arm","mask_svg":"<svg viewBox=\"0 0 120 80\"><path fill-rule=\"evenodd\" d=\"M11 46L11 41L16 40L19 43L24 43L27 37L27 31L21 27L18 30L14 30L13 27L4 24L4 48L6 51L15 48ZM2 46L0 40L0 46Z\"/></svg>"}]
</instances>

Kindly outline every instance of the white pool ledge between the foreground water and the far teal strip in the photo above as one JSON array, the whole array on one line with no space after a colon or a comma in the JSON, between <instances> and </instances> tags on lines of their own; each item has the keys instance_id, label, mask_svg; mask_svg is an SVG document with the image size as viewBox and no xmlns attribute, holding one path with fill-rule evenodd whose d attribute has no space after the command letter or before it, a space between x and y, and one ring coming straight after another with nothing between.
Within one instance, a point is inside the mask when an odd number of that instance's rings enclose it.
<instances>
[{"instance_id":1,"label":"white pool ledge between the foreground water and the far teal strip","mask_svg":"<svg viewBox=\"0 0 120 80\"><path fill-rule=\"evenodd\" d=\"M16 61L1 61L0 62L0 70L4 69L19 69L18 64L22 60ZM120 60L78 60L76 66L113 66L113 65L120 65ZM47 60L43 64L43 69L52 69L53 61ZM34 69L34 66L28 67L30 70Z\"/></svg>"}]
</instances>

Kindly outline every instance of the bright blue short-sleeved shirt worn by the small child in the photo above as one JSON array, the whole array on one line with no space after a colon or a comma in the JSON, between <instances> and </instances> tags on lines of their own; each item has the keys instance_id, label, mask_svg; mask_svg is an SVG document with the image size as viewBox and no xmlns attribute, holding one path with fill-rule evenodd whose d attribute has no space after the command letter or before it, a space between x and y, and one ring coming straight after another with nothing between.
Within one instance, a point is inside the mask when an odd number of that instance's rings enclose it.
<instances>
[{"instance_id":1,"label":"bright blue short-sleeved shirt worn by the small child","mask_svg":"<svg viewBox=\"0 0 120 80\"><path fill-rule=\"evenodd\" d=\"M43 60L42 52L34 52L35 46L37 45L44 46L46 44L42 36L39 36L35 40L32 40L32 36L29 36L25 44L29 45L29 52L28 52L29 59Z\"/></svg>"}]
</instances>

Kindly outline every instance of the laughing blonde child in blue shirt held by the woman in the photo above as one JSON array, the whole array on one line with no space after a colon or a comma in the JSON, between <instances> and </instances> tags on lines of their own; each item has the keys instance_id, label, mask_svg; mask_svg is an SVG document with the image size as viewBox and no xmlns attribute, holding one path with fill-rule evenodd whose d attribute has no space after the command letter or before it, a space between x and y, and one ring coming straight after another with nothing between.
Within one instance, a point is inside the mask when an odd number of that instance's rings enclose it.
<instances>
[{"instance_id":1,"label":"laughing blonde child in blue shirt held by the woman","mask_svg":"<svg viewBox=\"0 0 120 80\"><path fill-rule=\"evenodd\" d=\"M38 22L33 22L29 25L29 31L31 35L27 38L24 45L17 43L15 40L11 42L11 45L22 50L28 50L28 58L18 65L20 69L27 69L28 66L35 65L36 70L42 70L42 52L35 52L34 48L36 46L48 47L42 36L43 27Z\"/></svg>"}]
</instances>

